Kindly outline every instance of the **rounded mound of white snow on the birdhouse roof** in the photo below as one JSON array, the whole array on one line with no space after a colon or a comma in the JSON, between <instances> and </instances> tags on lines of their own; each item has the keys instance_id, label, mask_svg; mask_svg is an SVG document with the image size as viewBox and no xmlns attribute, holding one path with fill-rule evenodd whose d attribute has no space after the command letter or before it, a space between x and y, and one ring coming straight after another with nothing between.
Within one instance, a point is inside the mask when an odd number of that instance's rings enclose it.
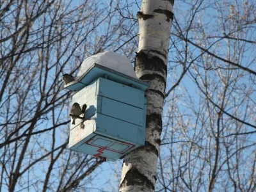
<instances>
[{"instance_id":1,"label":"rounded mound of white snow on the birdhouse roof","mask_svg":"<svg viewBox=\"0 0 256 192\"><path fill-rule=\"evenodd\" d=\"M131 61L127 57L112 51L100 52L86 58L86 60L83 61L77 76L83 76L86 70L88 70L94 63L138 79L133 70Z\"/></svg>"}]
</instances>

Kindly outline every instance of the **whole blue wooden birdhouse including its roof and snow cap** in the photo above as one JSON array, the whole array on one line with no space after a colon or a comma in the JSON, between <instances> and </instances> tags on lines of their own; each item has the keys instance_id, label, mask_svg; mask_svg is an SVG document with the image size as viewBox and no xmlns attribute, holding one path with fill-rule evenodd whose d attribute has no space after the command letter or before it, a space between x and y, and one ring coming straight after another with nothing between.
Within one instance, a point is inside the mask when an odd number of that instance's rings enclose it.
<instances>
[{"instance_id":1,"label":"whole blue wooden birdhouse including its roof and snow cap","mask_svg":"<svg viewBox=\"0 0 256 192\"><path fill-rule=\"evenodd\" d=\"M140 81L131 61L116 52L102 52L83 61L72 104L86 109L70 124L69 148L115 161L145 144L148 84Z\"/></svg>"}]
</instances>

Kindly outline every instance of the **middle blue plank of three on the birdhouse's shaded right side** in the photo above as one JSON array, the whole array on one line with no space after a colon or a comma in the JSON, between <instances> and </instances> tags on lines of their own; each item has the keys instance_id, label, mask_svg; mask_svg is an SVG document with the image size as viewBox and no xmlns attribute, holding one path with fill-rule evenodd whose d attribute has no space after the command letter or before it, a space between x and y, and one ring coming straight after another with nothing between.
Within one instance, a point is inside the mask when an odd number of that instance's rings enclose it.
<instances>
[{"instance_id":1,"label":"middle blue plank of three on the birdhouse's shaded right side","mask_svg":"<svg viewBox=\"0 0 256 192\"><path fill-rule=\"evenodd\" d=\"M143 109L102 97L102 114L142 126Z\"/></svg>"}]
</instances>

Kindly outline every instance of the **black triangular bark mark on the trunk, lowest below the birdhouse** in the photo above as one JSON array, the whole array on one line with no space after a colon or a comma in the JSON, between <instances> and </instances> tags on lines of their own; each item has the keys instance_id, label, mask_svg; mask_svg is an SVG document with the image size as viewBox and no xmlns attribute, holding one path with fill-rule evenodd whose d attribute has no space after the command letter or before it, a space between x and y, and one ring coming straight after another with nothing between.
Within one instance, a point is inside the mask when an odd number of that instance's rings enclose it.
<instances>
[{"instance_id":1,"label":"black triangular bark mark on the trunk, lowest below the birdhouse","mask_svg":"<svg viewBox=\"0 0 256 192\"><path fill-rule=\"evenodd\" d=\"M152 182L150 182L150 180L148 180L148 178L141 174L136 168L131 168L131 170L126 173L120 188L125 188L126 186L144 186L152 189L153 191L155 190L154 184L152 184Z\"/></svg>"}]
</instances>

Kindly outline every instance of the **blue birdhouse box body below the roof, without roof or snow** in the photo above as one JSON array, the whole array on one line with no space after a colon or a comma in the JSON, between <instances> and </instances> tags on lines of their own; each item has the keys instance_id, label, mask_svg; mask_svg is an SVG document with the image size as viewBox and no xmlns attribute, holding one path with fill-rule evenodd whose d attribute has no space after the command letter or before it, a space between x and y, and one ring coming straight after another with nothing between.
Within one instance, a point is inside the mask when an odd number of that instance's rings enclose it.
<instances>
[{"instance_id":1,"label":"blue birdhouse box body below the roof, without roof or snow","mask_svg":"<svg viewBox=\"0 0 256 192\"><path fill-rule=\"evenodd\" d=\"M143 91L99 77L72 103L86 105L86 111L70 126L70 149L115 161L145 144Z\"/></svg>"}]
</instances>

